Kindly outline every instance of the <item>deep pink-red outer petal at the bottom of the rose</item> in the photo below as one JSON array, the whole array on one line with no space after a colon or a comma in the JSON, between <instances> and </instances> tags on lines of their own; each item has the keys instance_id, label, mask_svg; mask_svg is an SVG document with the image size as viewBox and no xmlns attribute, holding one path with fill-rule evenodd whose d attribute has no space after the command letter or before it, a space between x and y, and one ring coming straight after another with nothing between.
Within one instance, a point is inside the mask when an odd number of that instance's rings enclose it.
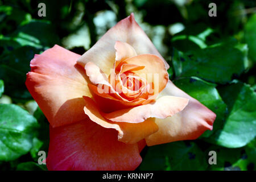
<instances>
[{"instance_id":1,"label":"deep pink-red outer petal at the bottom of the rose","mask_svg":"<svg viewBox=\"0 0 256 182\"><path fill-rule=\"evenodd\" d=\"M118 142L117 131L86 119L50 127L49 170L134 170L142 159L143 143Z\"/></svg>"}]
</instances>

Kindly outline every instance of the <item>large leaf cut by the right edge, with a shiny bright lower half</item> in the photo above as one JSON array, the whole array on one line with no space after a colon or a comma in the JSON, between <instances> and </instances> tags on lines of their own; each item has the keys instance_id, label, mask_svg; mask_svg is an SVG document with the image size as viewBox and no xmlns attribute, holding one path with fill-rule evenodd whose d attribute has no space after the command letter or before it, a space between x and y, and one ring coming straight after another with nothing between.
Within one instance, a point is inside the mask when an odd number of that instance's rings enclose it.
<instances>
[{"instance_id":1,"label":"large leaf cut by the right edge, with a shiny bright lower half","mask_svg":"<svg viewBox=\"0 0 256 182\"><path fill-rule=\"evenodd\" d=\"M229 148L243 147L256 136L256 93L241 82L218 90L229 114L223 129L217 130L209 141Z\"/></svg>"}]
</instances>

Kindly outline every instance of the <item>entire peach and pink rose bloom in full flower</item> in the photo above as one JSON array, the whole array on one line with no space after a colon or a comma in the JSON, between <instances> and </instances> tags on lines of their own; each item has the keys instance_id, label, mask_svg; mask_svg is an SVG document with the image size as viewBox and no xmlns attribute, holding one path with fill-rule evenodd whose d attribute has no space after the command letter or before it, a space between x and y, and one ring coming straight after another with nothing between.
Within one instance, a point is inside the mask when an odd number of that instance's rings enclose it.
<instances>
[{"instance_id":1,"label":"entire peach and pink rose bloom in full flower","mask_svg":"<svg viewBox=\"0 0 256 182\"><path fill-rule=\"evenodd\" d=\"M133 170L144 146L196 139L212 111L177 88L135 22L118 22L80 56L35 55L26 85L50 123L49 170Z\"/></svg>"}]
</instances>

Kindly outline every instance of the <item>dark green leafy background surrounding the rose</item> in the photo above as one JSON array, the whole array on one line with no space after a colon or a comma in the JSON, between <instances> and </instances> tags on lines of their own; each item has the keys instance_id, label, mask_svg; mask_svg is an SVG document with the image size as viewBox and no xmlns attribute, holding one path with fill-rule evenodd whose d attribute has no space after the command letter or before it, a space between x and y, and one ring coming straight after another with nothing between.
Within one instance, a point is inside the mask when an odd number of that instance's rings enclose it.
<instances>
[{"instance_id":1,"label":"dark green leafy background surrounding the rose","mask_svg":"<svg viewBox=\"0 0 256 182\"><path fill-rule=\"evenodd\" d=\"M37 162L49 125L24 85L34 55L54 44L82 54L132 12L171 65L170 79L217 114L197 140L144 148L137 170L255 170L254 0L0 0L0 170L47 170Z\"/></svg>"}]
</instances>

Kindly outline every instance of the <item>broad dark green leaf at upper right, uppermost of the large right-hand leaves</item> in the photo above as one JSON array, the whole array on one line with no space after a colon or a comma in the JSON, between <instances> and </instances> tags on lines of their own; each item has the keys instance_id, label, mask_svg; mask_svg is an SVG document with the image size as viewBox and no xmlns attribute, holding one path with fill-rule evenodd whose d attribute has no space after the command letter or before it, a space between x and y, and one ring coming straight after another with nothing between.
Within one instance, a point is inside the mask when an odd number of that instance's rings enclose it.
<instances>
[{"instance_id":1,"label":"broad dark green leaf at upper right, uppermost of the large right-hand leaves","mask_svg":"<svg viewBox=\"0 0 256 182\"><path fill-rule=\"evenodd\" d=\"M196 76L224 84L247 68L247 47L244 44L219 44L188 53L174 49L172 63L176 77Z\"/></svg>"}]
</instances>

